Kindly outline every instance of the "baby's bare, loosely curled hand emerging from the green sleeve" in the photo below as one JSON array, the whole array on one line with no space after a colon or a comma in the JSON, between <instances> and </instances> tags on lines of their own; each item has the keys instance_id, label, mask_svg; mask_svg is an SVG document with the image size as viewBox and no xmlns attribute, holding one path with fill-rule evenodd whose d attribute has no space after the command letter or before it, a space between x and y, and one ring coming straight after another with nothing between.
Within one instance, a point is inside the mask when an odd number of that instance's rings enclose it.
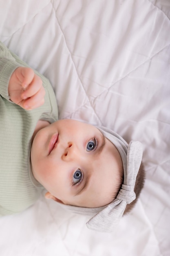
<instances>
[{"instance_id":1,"label":"baby's bare, loosely curled hand emerging from the green sleeve","mask_svg":"<svg viewBox=\"0 0 170 256\"><path fill-rule=\"evenodd\" d=\"M31 110L44 104L45 90L41 78L31 68L18 67L11 75L8 92L11 101Z\"/></svg>"}]
</instances>

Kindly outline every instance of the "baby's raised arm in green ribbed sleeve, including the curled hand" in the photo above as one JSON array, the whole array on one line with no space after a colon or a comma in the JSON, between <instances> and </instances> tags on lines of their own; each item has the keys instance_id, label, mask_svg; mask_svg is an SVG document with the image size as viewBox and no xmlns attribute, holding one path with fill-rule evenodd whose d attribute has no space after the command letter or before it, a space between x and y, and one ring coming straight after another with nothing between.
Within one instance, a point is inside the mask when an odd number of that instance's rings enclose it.
<instances>
[{"instance_id":1,"label":"baby's raised arm in green ribbed sleeve, including the curled hand","mask_svg":"<svg viewBox=\"0 0 170 256\"><path fill-rule=\"evenodd\" d=\"M0 95L26 110L44 103L42 79L0 42Z\"/></svg>"}]
</instances>

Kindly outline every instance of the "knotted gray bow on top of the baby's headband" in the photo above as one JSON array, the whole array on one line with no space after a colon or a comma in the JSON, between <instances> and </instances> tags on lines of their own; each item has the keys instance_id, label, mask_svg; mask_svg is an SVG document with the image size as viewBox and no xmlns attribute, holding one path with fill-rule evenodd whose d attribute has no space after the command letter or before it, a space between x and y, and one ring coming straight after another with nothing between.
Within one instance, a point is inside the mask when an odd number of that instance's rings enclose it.
<instances>
[{"instance_id":1,"label":"knotted gray bow on top of the baby's headband","mask_svg":"<svg viewBox=\"0 0 170 256\"><path fill-rule=\"evenodd\" d=\"M124 170L124 184L122 184L115 200L86 223L89 229L100 232L110 232L115 229L126 205L136 198L134 187L141 159L141 143L139 141L130 141L127 154L127 169Z\"/></svg>"}]
</instances>

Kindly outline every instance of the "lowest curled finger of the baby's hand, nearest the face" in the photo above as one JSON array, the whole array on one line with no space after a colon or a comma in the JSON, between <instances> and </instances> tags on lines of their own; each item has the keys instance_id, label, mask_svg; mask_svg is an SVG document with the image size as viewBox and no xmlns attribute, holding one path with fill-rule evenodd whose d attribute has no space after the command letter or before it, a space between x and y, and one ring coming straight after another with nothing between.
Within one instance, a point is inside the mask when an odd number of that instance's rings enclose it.
<instances>
[{"instance_id":1,"label":"lowest curled finger of the baby's hand, nearest the face","mask_svg":"<svg viewBox=\"0 0 170 256\"><path fill-rule=\"evenodd\" d=\"M22 103L22 108L26 110L32 110L34 108L42 106L44 104L44 96L45 90L43 87L41 87L35 95L33 95L31 98L24 100L24 102Z\"/></svg>"}]
</instances>

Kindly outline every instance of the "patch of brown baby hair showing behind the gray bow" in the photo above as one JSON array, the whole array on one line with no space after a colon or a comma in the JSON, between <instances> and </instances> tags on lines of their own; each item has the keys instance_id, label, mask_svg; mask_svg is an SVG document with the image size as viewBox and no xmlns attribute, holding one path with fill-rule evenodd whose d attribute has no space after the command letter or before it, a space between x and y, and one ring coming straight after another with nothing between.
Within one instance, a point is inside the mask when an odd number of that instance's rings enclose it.
<instances>
[{"instance_id":1,"label":"patch of brown baby hair showing behind the gray bow","mask_svg":"<svg viewBox=\"0 0 170 256\"><path fill-rule=\"evenodd\" d=\"M141 190L144 187L144 182L145 182L145 169L144 169L144 164L141 163L141 166L139 168L139 172L138 172L137 178L136 178L135 188L134 188L136 198L130 204L127 204L124 214L129 213L132 210L132 208L135 206L135 204L139 198L139 195L141 193Z\"/></svg>"}]
</instances>

